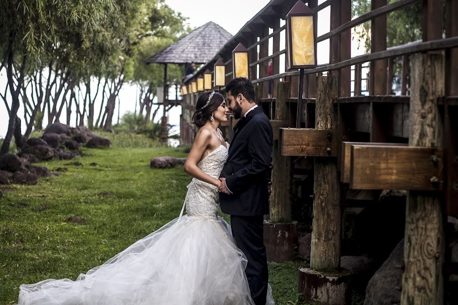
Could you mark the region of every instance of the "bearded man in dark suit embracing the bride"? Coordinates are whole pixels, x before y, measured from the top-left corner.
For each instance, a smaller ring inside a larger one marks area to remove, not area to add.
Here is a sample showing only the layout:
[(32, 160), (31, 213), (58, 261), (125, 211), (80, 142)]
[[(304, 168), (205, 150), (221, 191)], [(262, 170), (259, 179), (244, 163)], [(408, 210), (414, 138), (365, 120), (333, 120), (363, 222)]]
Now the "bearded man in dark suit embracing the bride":
[(232, 131), (229, 157), (221, 172), (221, 210), (231, 215), (237, 246), (245, 254), (245, 269), (256, 305), (265, 305), (267, 256), (263, 216), (269, 214), (266, 172), (272, 153), (272, 125), (254, 102), (254, 89), (244, 77), (226, 85), (228, 108), (240, 119)]

